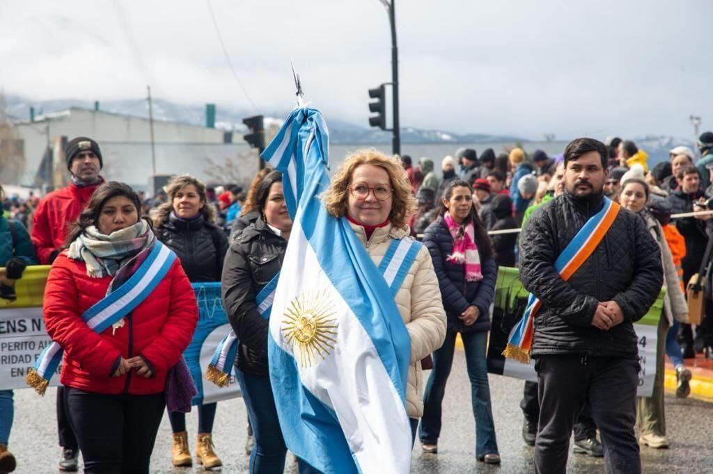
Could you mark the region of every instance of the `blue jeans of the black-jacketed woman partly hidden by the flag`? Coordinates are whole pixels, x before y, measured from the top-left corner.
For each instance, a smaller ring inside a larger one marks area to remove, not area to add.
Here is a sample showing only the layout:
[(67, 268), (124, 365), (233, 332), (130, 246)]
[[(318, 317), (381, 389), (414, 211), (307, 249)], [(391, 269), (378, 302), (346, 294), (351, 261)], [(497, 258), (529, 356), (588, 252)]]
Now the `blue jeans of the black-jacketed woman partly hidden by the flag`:
[[(255, 436), (255, 445), (250, 453), (250, 474), (282, 473), (287, 446), (279, 427), (270, 376), (248, 374), (236, 367), (235, 378), (240, 384), (252, 434)], [(297, 469), (299, 474), (317, 472), (301, 459), (297, 460)]]

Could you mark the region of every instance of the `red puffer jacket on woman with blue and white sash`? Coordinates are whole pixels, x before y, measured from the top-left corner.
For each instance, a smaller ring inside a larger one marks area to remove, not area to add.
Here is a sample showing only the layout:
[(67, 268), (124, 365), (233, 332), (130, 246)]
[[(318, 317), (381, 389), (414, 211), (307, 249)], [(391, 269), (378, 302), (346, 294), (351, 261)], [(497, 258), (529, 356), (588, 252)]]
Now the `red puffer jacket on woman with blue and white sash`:
[[(198, 305), (178, 258), (153, 292), (124, 317), (123, 327), (97, 334), (81, 319), (106, 295), (111, 277), (90, 278), (81, 260), (64, 253), (47, 278), (44, 320), (53, 341), (64, 349), (61, 382), (98, 394), (158, 394), (168, 369), (178, 362), (198, 322)], [(153, 369), (145, 378), (131, 370), (114, 377), (119, 357), (141, 355)]]

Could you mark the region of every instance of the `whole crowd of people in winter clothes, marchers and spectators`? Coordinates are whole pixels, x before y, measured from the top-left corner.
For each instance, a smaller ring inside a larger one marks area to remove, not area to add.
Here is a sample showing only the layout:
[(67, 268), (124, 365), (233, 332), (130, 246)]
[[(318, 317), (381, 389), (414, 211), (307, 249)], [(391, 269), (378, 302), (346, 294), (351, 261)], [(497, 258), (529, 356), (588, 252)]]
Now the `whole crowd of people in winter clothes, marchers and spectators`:
[[(443, 157), (440, 174), (425, 157), (415, 167), (407, 155), (398, 162), (374, 150), (344, 160), (324, 205), (349, 220), (374, 263), (393, 239), (410, 233), (424, 241), (394, 296), (412, 356), (421, 360), (409, 370), (406, 406), (424, 452), (438, 452), (460, 335), (475, 456), (501, 462), (486, 364), (499, 266), (518, 266), (523, 285), (540, 301), (531, 349), (539, 383), (525, 383), (520, 404), (535, 470), (565, 472), (573, 430), (574, 451), (603, 455), (607, 472), (640, 472), (639, 445), (668, 446), (664, 354), (676, 369), (680, 397), (690, 391), (684, 359), (697, 352), (713, 358), (713, 297), (706, 295), (702, 323), (692, 327), (684, 291), (694, 275), (711, 278), (703, 260), (712, 214), (672, 218), (713, 208), (712, 150), (713, 132), (706, 132), (699, 159), (676, 147), (670, 162), (653, 167), (634, 142), (618, 138), (577, 139), (556, 157), (520, 148), (499, 155), (486, 149), (478, 157), (474, 149), (458, 149)], [(78, 470), (81, 451), (86, 472), (148, 472), (167, 406), (173, 464), (193, 463), (185, 424), (190, 401), (186, 408), (174, 384), (190, 381), (181, 357), (198, 318), (190, 283), (221, 281), (240, 341), (235, 374), (247, 407), (250, 471), (282, 472), (287, 447), (267, 372), (268, 323), (257, 309), (257, 294), (279, 273), (292, 229), (282, 175), (263, 169), (247, 191), (179, 175), (147, 199), (101, 177), (101, 149), (93, 139), (72, 139), (66, 157), (69, 186), (24, 202), (3, 196), (0, 218), (5, 278), (21, 278), (26, 265), (52, 265), (43, 312), (48, 334), (65, 354), (56, 400), (59, 468)], [(609, 206), (615, 214), (600, 243), (565, 283), (555, 260)], [(153, 278), (149, 292), (113, 320), (90, 324), (93, 307), (143, 278)], [(663, 285), (655, 388), (637, 399), (632, 323)], [(15, 296), (4, 283), (0, 293)], [(431, 369), (425, 386), (422, 369)], [(12, 407), (12, 391), (0, 391), (1, 472), (16, 465), (8, 451)], [(205, 468), (222, 464), (212, 441), (216, 413), (215, 403), (198, 407), (195, 451)], [(299, 470), (314, 472), (302, 460)]]

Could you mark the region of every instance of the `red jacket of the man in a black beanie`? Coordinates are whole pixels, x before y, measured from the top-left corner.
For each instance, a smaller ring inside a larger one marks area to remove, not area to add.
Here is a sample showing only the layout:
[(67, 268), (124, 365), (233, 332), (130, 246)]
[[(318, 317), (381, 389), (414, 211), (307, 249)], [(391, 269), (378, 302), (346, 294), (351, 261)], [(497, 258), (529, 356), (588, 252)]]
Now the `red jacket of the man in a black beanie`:
[(32, 221), (32, 243), (41, 265), (51, 263), (52, 253), (64, 246), (71, 224), (79, 218), (92, 193), (103, 182), (102, 179), (101, 183), (84, 187), (72, 183), (52, 191), (40, 201)]

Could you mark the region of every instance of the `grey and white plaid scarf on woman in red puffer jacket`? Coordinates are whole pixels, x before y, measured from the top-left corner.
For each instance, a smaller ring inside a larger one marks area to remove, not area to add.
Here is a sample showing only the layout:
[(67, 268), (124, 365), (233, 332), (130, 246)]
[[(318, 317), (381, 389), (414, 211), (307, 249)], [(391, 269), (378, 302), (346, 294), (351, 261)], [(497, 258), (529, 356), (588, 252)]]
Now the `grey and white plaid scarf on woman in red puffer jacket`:
[(148, 255), (145, 251), (153, 247), (155, 238), (144, 219), (108, 236), (96, 226), (89, 226), (70, 244), (68, 257), (83, 260), (91, 278), (115, 277), (109, 285), (108, 293), (111, 293), (133, 275), (133, 270)]

